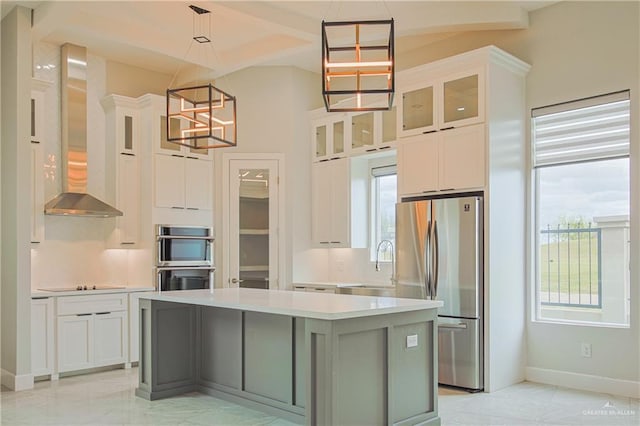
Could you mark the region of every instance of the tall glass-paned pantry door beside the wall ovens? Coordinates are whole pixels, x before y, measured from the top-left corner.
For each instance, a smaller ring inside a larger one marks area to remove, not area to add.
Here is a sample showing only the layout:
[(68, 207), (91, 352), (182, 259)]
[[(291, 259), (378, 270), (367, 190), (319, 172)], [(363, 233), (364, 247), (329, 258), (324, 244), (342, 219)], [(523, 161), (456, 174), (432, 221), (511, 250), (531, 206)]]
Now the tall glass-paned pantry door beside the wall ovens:
[(230, 287), (277, 288), (276, 160), (231, 160)]

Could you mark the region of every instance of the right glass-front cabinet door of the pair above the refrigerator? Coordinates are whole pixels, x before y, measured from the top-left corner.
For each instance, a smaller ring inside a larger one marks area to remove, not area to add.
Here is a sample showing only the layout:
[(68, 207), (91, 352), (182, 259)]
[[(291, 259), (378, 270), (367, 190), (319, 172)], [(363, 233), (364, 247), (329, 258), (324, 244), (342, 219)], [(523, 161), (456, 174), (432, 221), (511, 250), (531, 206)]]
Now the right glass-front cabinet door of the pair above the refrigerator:
[(474, 70), (451, 76), (442, 83), (440, 129), (484, 120), (484, 73)]

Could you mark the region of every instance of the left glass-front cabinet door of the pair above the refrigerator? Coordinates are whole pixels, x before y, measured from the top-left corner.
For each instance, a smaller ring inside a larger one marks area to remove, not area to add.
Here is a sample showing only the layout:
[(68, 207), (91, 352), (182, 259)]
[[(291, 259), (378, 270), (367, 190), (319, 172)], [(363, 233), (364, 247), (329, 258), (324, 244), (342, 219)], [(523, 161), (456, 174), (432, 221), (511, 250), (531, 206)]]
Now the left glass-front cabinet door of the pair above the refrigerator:
[(426, 85), (402, 92), (398, 135), (411, 136), (436, 129), (435, 87)]

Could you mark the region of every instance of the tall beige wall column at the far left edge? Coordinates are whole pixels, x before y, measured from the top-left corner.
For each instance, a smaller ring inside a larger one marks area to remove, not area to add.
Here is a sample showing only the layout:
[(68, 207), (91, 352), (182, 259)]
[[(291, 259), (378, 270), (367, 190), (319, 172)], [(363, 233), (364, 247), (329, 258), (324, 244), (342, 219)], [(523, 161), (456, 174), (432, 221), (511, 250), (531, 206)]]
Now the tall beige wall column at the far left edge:
[[(2, 384), (33, 387), (31, 375), (30, 188), (31, 15), (16, 7), (2, 20), (0, 295)], [(25, 214), (26, 213), (26, 214)]]

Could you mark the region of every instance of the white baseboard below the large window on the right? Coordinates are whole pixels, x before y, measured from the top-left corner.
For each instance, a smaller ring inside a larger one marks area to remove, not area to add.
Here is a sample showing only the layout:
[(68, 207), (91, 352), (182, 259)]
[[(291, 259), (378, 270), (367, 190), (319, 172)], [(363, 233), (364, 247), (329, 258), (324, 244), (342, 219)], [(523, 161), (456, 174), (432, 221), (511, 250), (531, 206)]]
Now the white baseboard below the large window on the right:
[(530, 382), (590, 392), (609, 393), (630, 398), (640, 398), (640, 382), (633, 380), (612, 379), (610, 377), (535, 367), (527, 367), (525, 377)]

